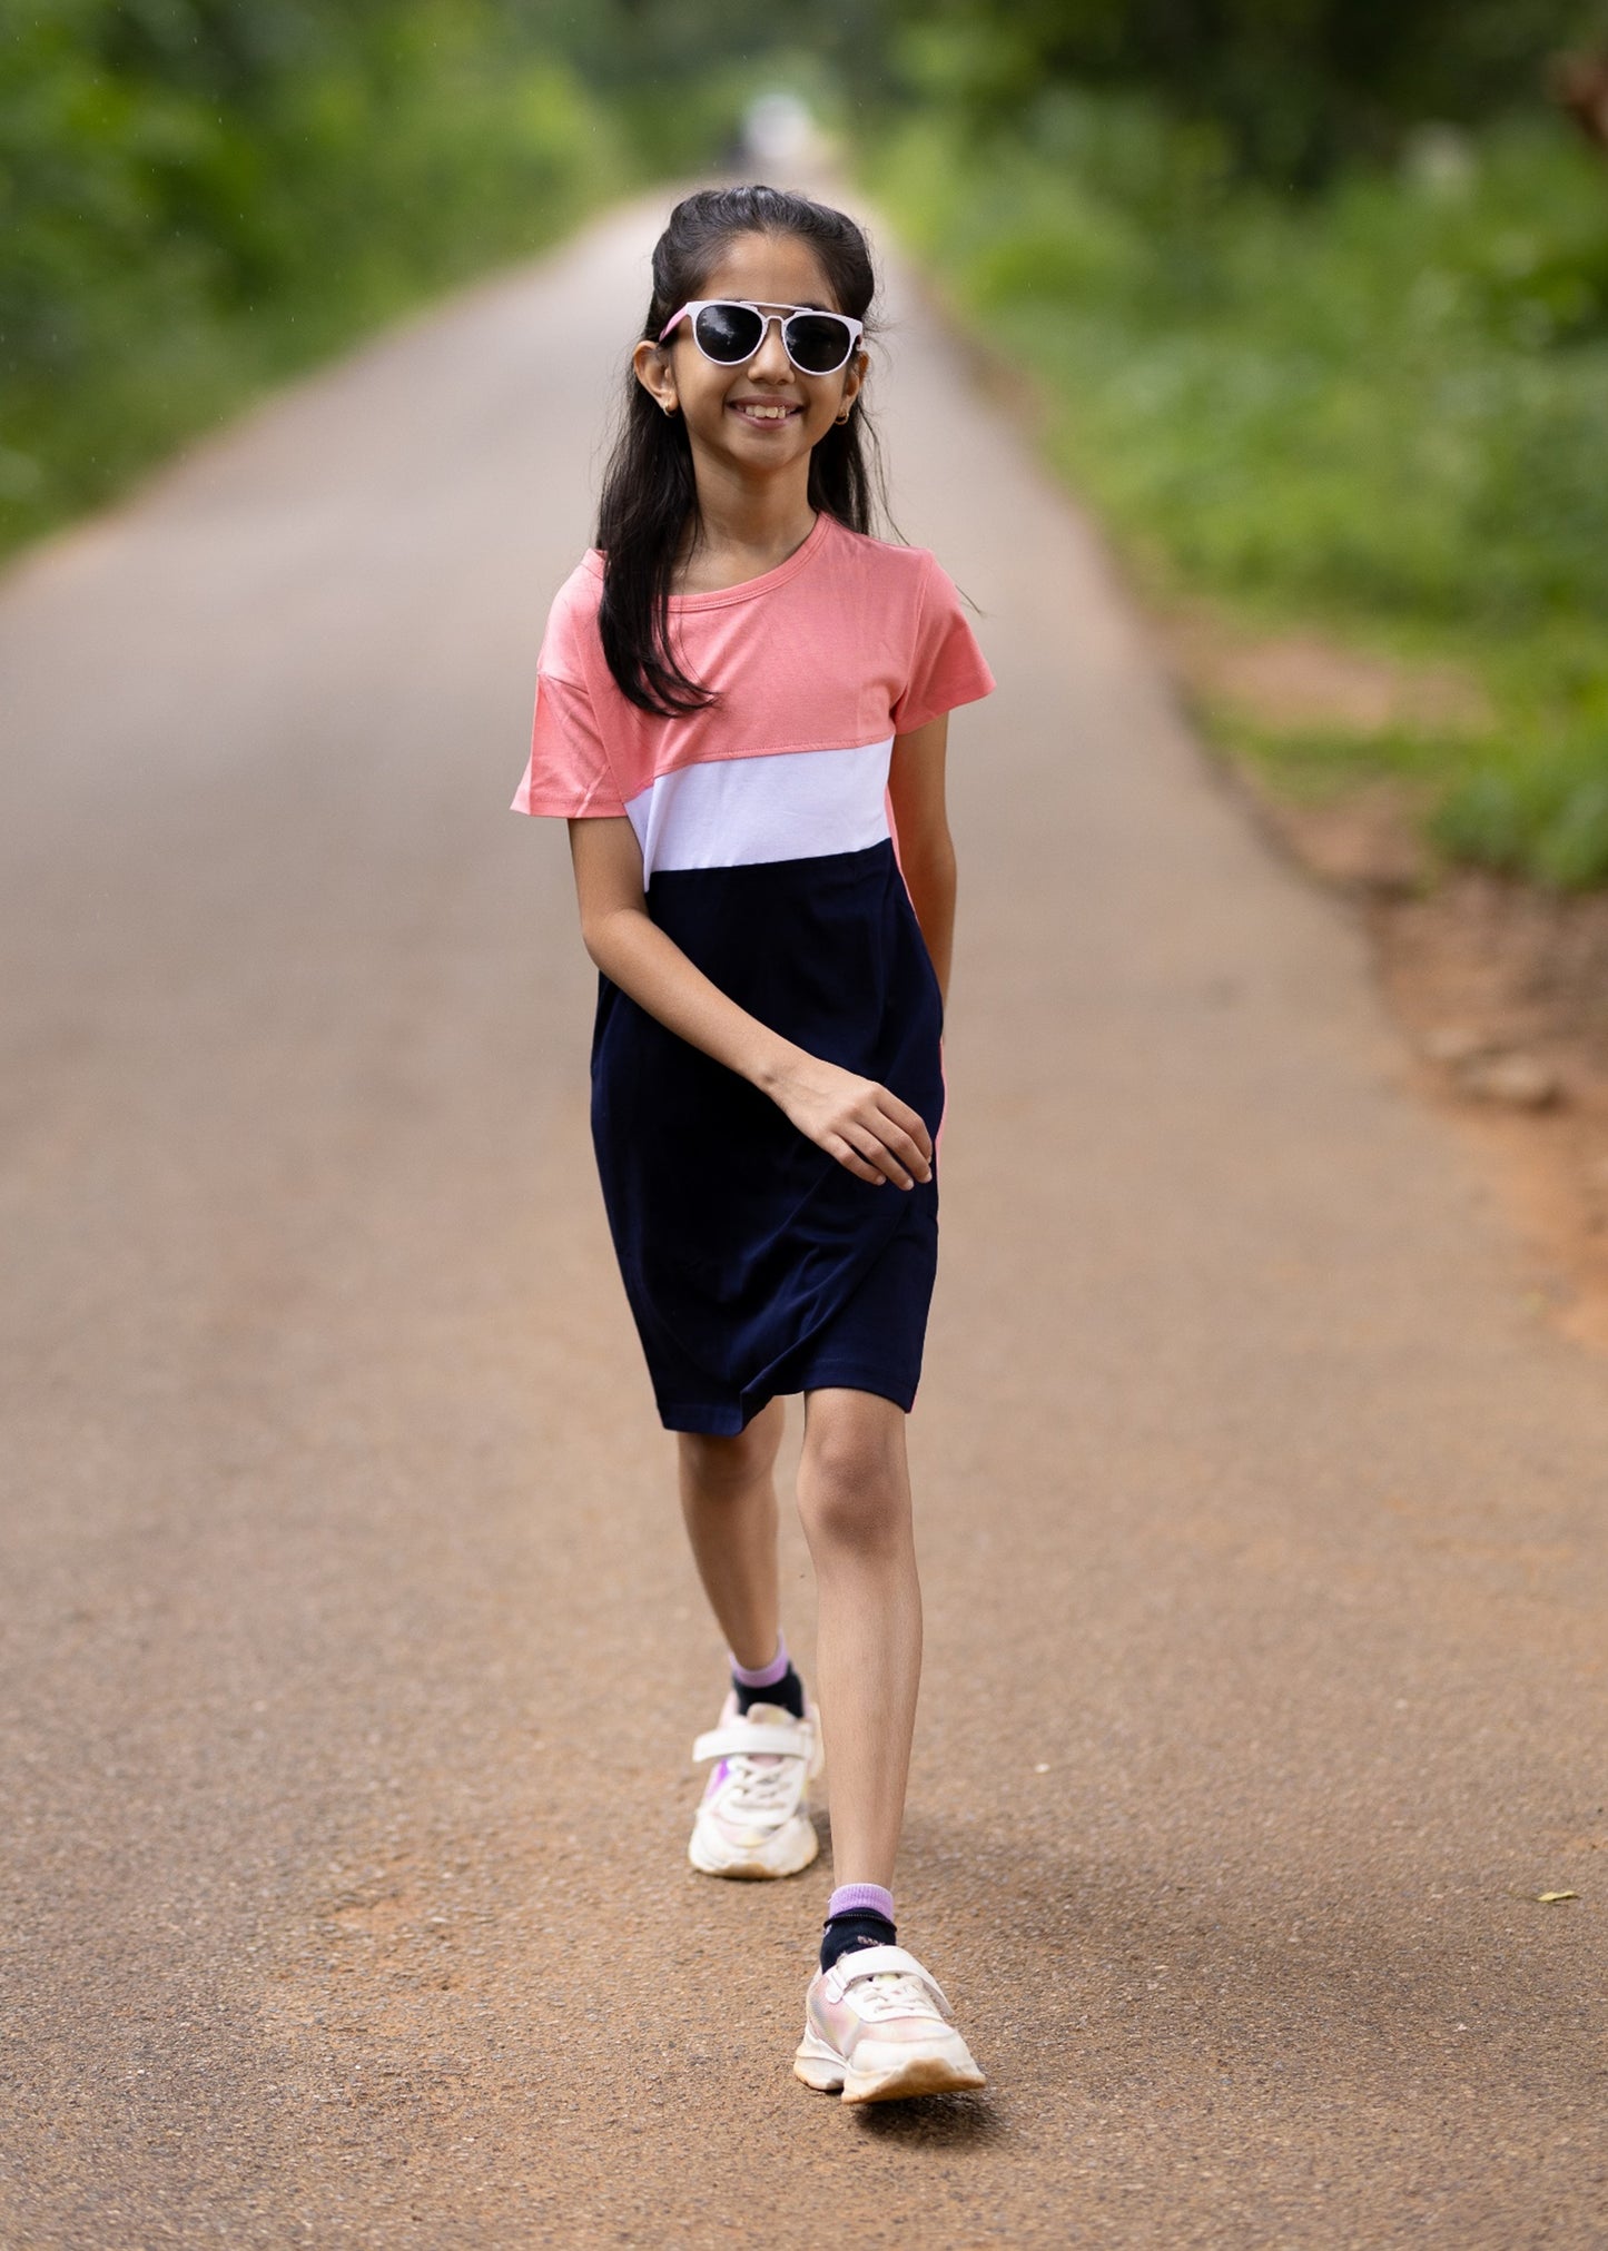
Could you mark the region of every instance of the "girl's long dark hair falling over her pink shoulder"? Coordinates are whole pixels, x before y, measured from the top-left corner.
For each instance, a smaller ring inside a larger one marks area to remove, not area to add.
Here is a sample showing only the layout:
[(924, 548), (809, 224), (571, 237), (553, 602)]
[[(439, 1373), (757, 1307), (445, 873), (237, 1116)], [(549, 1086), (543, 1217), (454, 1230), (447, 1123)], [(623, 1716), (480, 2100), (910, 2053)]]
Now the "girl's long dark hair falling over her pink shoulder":
[[(644, 340), (689, 297), (739, 234), (795, 234), (820, 259), (838, 311), (865, 320), (876, 293), (872, 248), (851, 218), (779, 187), (700, 187), (669, 216), (653, 245), (653, 295)], [(860, 394), (809, 459), (809, 502), (851, 531), (869, 531), (883, 504), (876, 437)], [(604, 473), (597, 545), (604, 549), (604, 601), (597, 612), (604, 655), (624, 696), (642, 711), (673, 718), (714, 702), (671, 646), (669, 597), (676, 549), (698, 513), (691, 443), (680, 414), (664, 414), (626, 369), (619, 437)]]

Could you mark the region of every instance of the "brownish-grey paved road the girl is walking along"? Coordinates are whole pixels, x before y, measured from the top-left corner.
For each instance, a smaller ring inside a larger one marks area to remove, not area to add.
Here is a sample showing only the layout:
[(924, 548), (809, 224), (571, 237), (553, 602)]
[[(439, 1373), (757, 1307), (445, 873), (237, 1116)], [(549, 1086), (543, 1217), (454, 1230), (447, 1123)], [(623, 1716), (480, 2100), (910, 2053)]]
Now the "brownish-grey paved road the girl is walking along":
[(908, 295), (1002, 682), (901, 1875), (986, 2096), (811, 2098), (824, 1873), (682, 1864), (718, 1643), (504, 813), (651, 225), (0, 594), (0, 2242), (1603, 2244), (1603, 1366)]

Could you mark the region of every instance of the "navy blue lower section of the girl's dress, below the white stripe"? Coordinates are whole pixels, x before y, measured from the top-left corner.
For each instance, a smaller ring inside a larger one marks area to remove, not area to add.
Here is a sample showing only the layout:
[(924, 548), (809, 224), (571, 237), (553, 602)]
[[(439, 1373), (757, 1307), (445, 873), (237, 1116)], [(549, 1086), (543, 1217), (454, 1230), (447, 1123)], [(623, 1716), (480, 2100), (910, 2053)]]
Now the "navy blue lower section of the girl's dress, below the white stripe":
[[(944, 1004), (890, 837), (658, 869), (651, 918), (772, 1031), (944, 1116)], [(734, 1434), (820, 1384), (910, 1409), (937, 1274), (930, 1182), (876, 1186), (599, 972), (592, 1144), (667, 1429)]]

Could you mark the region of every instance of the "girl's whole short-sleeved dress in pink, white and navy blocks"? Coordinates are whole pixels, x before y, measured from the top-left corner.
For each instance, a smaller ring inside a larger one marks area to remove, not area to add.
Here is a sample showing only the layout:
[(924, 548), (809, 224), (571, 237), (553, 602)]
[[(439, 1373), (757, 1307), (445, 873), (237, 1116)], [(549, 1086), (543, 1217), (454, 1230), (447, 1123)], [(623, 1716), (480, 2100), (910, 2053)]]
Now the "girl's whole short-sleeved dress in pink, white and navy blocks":
[[(955, 585), (831, 515), (786, 563), (671, 601), (718, 700), (655, 718), (604, 660), (592, 549), (554, 599), (516, 813), (624, 815), (646, 907), (772, 1031), (881, 1080), (935, 1137), (944, 1008), (899, 871), (896, 734), (993, 689)], [(592, 1146), (667, 1429), (734, 1434), (851, 1384), (910, 1409), (937, 1272), (937, 1162), (858, 1180), (757, 1087), (599, 972)]]

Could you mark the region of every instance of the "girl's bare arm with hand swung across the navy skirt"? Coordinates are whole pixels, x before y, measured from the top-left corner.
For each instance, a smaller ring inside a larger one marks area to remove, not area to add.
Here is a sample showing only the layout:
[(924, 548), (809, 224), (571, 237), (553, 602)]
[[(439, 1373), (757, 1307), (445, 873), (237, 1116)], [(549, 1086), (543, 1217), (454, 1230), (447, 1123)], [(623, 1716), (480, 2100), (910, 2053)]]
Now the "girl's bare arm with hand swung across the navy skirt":
[(845, 1071), (784, 1040), (687, 959), (649, 914), (642, 846), (624, 815), (570, 822), (581, 941), (637, 1006), (691, 1047), (725, 1062), (849, 1173), (912, 1189), (932, 1177), (932, 1137), (919, 1110), (874, 1078)]

